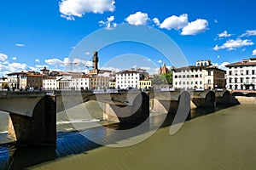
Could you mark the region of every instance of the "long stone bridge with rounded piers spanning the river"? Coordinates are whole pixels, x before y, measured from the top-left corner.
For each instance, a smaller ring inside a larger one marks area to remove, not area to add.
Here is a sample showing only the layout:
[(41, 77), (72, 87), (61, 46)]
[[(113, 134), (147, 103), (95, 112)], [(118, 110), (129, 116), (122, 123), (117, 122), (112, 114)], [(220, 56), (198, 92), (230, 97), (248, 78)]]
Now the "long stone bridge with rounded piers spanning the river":
[(230, 102), (229, 91), (161, 92), (125, 91), (93, 94), (80, 91), (0, 92), (0, 111), (9, 112), (9, 135), (20, 144), (56, 144), (56, 112), (90, 100), (101, 103), (103, 118), (121, 123), (142, 123), (149, 109), (183, 114), (189, 119), (190, 102), (197, 107), (215, 107)]

